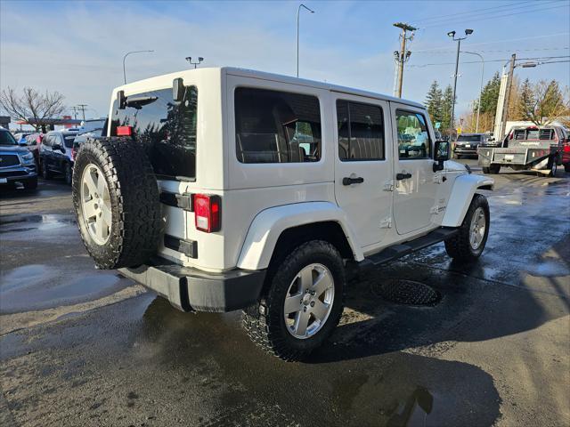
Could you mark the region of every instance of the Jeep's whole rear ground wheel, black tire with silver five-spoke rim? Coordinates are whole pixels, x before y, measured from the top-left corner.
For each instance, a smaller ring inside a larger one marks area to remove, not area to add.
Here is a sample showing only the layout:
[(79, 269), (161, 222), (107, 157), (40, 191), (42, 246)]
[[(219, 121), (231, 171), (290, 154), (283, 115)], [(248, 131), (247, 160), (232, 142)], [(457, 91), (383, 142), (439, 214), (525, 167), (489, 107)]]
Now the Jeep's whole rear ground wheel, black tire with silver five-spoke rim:
[(313, 240), (276, 266), (260, 302), (243, 311), (253, 342), (280, 359), (304, 359), (338, 325), (345, 271), (335, 246)]

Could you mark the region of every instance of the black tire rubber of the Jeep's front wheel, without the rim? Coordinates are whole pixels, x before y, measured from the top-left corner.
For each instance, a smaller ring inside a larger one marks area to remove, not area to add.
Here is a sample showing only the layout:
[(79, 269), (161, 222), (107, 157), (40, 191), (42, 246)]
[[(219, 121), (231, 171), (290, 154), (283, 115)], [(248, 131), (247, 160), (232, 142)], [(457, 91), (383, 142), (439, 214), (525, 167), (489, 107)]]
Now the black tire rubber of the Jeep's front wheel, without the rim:
[[(469, 243), (469, 228), (471, 225), (471, 220), (473, 214), (478, 207), (483, 208), (485, 212), (485, 235), (483, 241), (479, 247), (474, 250)], [(489, 203), (487, 198), (481, 194), (476, 194), (471, 200), (471, 205), (469, 205), (467, 214), (461, 223), (460, 230), (453, 238), (445, 240), (445, 251), (452, 257), (455, 261), (459, 262), (474, 262), (483, 253), (485, 249), (485, 244), (487, 243), (487, 238), (489, 237)]]

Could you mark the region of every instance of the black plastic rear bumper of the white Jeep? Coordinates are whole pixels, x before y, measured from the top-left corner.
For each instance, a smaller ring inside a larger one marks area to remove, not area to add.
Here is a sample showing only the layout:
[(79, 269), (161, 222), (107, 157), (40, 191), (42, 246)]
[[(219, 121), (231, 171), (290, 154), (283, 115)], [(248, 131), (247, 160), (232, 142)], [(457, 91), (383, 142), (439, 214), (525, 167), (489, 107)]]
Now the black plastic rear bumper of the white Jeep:
[(183, 311), (243, 309), (257, 301), (265, 280), (265, 270), (230, 270), (213, 274), (165, 260), (118, 271), (162, 295)]

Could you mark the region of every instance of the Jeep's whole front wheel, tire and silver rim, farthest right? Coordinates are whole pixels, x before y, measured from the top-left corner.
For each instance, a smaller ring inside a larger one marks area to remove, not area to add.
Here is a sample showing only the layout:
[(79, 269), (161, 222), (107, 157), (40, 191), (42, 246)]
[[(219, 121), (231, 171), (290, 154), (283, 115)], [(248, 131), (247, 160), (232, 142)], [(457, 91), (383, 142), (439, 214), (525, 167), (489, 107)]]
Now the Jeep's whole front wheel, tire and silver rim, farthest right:
[(485, 196), (476, 194), (458, 233), (445, 240), (445, 251), (454, 260), (473, 262), (481, 256), (489, 236), (489, 203)]

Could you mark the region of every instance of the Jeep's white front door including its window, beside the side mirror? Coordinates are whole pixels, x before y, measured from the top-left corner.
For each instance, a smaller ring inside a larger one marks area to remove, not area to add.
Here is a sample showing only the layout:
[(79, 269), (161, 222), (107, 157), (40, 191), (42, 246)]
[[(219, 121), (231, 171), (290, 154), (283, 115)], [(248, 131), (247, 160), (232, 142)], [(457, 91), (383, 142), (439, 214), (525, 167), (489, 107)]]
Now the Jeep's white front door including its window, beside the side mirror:
[(395, 141), (394, 218), (398, 234), (432, 225), (436, 208), (433, 131), (423, 109), (391, 102)]

